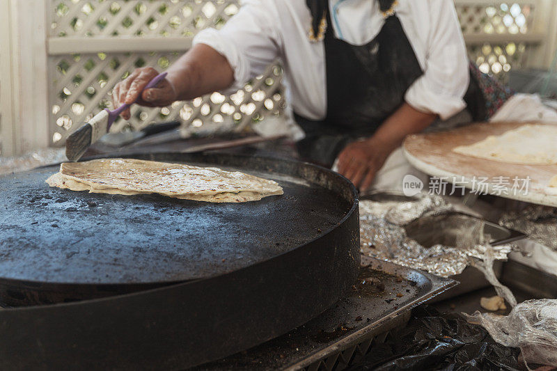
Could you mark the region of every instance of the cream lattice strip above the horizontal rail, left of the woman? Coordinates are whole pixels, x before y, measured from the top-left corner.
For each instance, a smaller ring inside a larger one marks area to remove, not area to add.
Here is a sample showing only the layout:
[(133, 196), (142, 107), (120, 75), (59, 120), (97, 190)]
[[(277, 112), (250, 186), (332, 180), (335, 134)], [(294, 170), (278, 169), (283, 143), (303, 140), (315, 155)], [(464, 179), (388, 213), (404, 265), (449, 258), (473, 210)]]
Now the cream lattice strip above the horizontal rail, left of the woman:
[(219, 28), (237, 13), (237, 1), (50, 0), (53, 37), (193, 36)]

